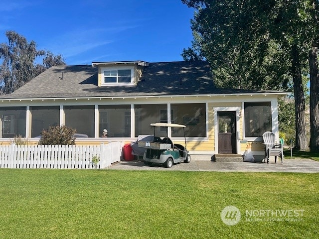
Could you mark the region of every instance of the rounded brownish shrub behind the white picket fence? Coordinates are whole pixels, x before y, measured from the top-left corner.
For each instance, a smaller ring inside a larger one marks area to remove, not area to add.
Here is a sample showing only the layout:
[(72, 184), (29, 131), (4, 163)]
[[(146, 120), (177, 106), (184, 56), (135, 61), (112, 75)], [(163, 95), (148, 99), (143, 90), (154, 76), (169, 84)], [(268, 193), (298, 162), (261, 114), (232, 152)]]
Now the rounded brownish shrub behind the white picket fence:
[(39, 144), (73, 145), (75, 144), (75, 137), (73, 137), (75, 132), (76, 129), (65, 125), (50, 126), (48, 129), (42, 130)]

